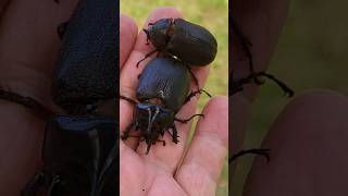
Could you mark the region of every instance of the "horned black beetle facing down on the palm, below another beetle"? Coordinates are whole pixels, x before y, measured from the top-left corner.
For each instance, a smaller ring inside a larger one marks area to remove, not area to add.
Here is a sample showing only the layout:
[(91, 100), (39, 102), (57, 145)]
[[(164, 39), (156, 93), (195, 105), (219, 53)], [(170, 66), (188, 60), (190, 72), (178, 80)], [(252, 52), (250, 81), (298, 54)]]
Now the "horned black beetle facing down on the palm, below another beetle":
[[(156, 58), (147, 64), (139, 77), (139, 86), (136, 90), (137, 100), (125, 96), (121, 98), (136, 105), (133, 122), (123, 132), (122, 139), (129, 137), (130, 130), (140, 130), (140, 142), (148, 145), (146, 154), (151, 145), (154, 145), (159, 136), (163, 136), (165, 131), (172, 128), (171, 136), (174, 143), (177, 140), (177, 131), (174, 121), (188, 122), (196, 115), (187, 120), (179, 120), (175, 114), (189, 99), (197, 94), (190, 93), (190, 73), (178, 60), (173, 58)], [(144, 138), (144, 139), (142, 139)], [(165, 144), (164, 140), (163, 145)]]

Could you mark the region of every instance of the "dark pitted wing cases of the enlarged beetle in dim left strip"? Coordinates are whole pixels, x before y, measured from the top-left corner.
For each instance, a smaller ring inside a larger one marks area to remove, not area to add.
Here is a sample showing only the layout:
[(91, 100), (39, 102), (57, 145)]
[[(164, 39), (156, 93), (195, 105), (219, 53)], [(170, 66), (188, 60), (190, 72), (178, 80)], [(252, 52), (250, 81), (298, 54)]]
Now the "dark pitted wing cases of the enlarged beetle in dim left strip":
[(54, 102), (65, 110), (116, 96), (116, 3), (82, 0), (69, 22), (52, 89)]

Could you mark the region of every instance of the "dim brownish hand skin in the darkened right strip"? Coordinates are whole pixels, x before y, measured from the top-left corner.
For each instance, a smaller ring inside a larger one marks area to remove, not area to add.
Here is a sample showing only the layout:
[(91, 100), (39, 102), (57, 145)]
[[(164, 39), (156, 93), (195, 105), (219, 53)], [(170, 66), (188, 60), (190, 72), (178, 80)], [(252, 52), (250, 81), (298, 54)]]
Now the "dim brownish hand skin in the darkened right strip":
[[(285, 0), (262, 3), (246, 0), (233, 7), (236, 21), (253, 44), (258, 71), (266, 69), (273, 54), (287, 7)], [(233, 56), (234, 64), (238, 65), (236, 69), (246, 68), (247, 62), (238, 62), (236, 52), (234, 50)], [(241, 69), (239, 73), (247, 74), (248, 70)], [(257, 88), (256, 85), (248, 86), (246, 91), (229, 98), (234, 133), (229, 147), (234, 151), (240, 149), (241, 143), (237, 144), (237, 140), (244, 137)], [(262, 157), (256, 158), (245, 184), (245, 196), (348, 194), (345, 186), (348, 175), (347, 96), (324, 89), (297, 94), (264, 138), (262, 148), (271, 149), (271, 161), (266, 163)], [(233, 177), (233, 169), (229, 177)]]

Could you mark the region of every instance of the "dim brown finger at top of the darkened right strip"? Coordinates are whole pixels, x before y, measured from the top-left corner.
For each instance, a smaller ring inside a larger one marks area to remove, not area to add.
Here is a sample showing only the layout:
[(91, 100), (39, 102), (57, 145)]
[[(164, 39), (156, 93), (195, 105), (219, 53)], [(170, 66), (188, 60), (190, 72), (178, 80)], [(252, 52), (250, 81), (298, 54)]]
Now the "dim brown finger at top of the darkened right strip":
[[(247, 0), (236, 3), (232, 2), (232, 17), (236, 28), (252, 44), (250, 47), (254, 71), (264, 71), (269, 65), (276, 47), (279, 34), (287, 16), (289, 0), (266, 0), (262, 3)], [(233, 30), (235, 33), (235, 30)], [(235, 35), (235, 34), (234, 34)], [(249, 61), (246, 52), (240, 47), (240, 38), (234, 36), (232, 69), (234, 77), (240, 78), (250, 74)], [(240, 56), (243, 60), (240, 61)], [(253, 100), (257, 85), (246, 88), (244, 94)]]

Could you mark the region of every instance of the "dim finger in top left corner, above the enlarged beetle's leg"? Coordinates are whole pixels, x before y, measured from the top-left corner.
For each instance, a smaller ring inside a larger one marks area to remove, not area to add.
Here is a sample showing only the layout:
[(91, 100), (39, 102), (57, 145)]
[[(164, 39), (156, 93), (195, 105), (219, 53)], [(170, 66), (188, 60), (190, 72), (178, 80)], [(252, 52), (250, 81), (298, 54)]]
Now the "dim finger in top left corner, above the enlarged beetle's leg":
[(77, 0), (12, 0), (1, 20), (0, 84), (51, 108), (51, 76), (61, 40), (57, 27), (66, 22)]

